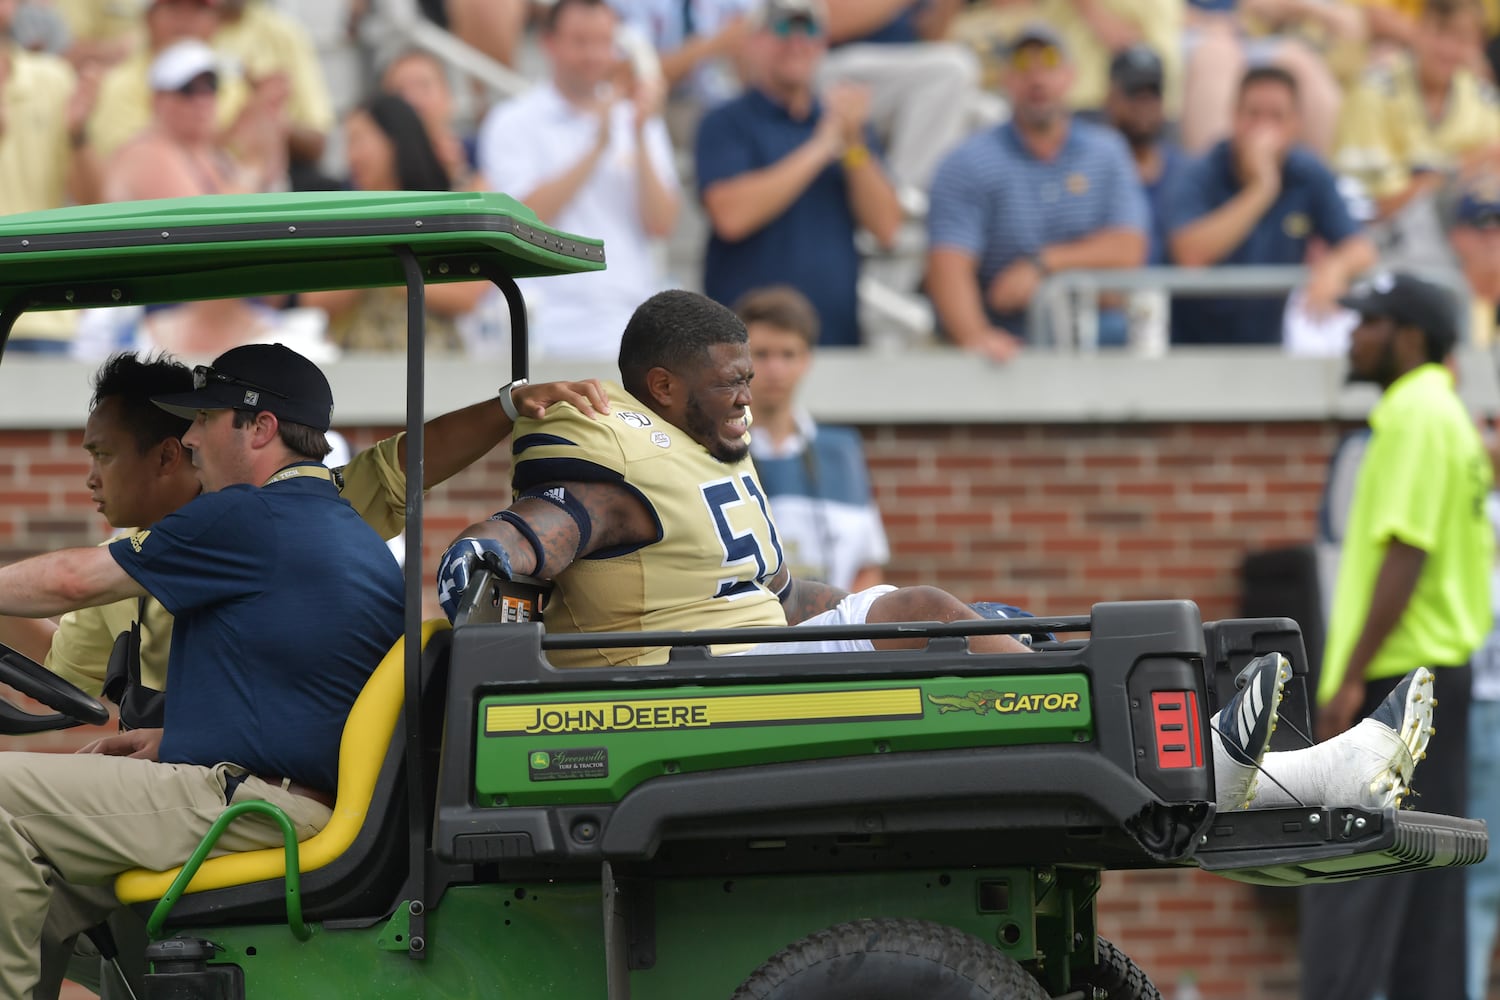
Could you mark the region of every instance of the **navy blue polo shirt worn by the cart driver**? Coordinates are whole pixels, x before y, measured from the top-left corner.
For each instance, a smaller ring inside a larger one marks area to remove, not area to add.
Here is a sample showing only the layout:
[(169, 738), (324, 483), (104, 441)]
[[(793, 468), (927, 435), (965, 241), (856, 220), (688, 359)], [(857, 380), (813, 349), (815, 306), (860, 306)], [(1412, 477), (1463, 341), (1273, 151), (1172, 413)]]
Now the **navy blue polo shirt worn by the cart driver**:
[(390, 549), (333, 483), (204, 493), (110, 555), (176, 618), (159, 759), (333, 792), (344, 723), (405, 606)]

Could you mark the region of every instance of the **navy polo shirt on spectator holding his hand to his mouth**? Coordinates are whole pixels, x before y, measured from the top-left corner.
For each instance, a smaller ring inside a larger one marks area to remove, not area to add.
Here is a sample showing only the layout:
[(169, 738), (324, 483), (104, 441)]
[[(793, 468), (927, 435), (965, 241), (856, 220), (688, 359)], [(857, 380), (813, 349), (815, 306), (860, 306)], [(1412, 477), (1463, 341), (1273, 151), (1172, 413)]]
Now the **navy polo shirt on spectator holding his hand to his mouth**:
[[(1242, 184), (1222, 141), (1188, 166), (1167, 205), (1167, 231), (1202, 219), (1233, 198)], [(1220, 267), (1302, 264), (1308, 240), (1342, 243), (1359, 232), (1334, 172), (1310, 150), (1293, 148), (1281, 168), (1281, 195)], [(1178, 298), (1172, 309), (1173, 343), (1281, 343), (1286, 295), (1260, 298)]]

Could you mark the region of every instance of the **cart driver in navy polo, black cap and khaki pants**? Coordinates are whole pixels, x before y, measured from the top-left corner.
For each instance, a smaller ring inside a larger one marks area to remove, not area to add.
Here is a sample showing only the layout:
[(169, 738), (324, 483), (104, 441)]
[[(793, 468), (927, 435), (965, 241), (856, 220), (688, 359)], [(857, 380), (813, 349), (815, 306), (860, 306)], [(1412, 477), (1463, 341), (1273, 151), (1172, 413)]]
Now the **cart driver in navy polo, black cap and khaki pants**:
[[(332, 816), (339, 735), (400, 634), (402, 573), (321, 459), (333, 393), (282, 345), (234, 348), (154, 397), (190, 417), (202, 493), (108, 546), (0, 568), (0, 613), (62, 615), (150, 594), (174, 615), (162, 729), (99, 756), (0, 754), (0, 996), (30, 1000), (129, 868), (182, 864), (234, 799), (308, 838)], [(274, 622), (268, 628), (267, 622)], [(309, 642), (309, 637), (316, 637)], [(280, 843), (261, 817), (224, 850)]]

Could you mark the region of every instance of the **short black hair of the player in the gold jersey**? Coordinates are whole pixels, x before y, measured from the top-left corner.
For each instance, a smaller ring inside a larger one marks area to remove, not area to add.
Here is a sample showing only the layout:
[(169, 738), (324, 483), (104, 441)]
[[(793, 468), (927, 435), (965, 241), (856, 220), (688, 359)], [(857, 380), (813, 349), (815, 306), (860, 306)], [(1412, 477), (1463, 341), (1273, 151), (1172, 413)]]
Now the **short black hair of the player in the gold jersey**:
[(746, 343), (746, 325), (712, 298), (672, 289), (640, 303), (620, 337), (620, 381), (645, 400), (646, 372), (664, 367), (686, 372), (708, 361), (718, 343)]

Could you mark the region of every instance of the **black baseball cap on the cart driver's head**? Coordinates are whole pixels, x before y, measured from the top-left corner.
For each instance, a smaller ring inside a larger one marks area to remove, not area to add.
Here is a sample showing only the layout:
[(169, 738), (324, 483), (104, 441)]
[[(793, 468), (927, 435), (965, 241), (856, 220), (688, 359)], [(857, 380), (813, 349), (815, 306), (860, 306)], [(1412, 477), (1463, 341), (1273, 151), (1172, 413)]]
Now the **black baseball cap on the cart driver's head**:
[(333, 390), (316, 364), (282, 343), (248, 343), (192, 370), (194, 390), (153, 396), (170, 414), (192, 420), (200, 409), (270, 412), (279, 420), (327, 430)]

